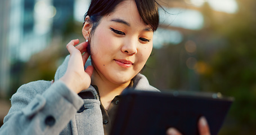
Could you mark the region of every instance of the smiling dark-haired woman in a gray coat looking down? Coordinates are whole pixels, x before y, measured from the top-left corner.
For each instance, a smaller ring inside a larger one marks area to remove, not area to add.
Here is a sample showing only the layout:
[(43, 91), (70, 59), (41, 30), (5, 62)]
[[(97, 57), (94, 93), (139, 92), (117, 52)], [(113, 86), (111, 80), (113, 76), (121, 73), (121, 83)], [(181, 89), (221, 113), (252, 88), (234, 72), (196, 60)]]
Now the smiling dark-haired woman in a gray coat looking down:
[[(39, 80), (18, 89), (0, 133), (108, 134), (113, 101), (125, 88), (158, 91), (140, 74), (158, 27), (154, 0), (92, 0), (84, 21), (87, 42), (68, 43), (70, 56), (57, 69), (54, 83)], [(84, 70), (89, 55), (92, 66)], [(209, 133), (207, 126), (200, 129)], [(173, 133), (179, 134), (168, 129), (167, 134)]]

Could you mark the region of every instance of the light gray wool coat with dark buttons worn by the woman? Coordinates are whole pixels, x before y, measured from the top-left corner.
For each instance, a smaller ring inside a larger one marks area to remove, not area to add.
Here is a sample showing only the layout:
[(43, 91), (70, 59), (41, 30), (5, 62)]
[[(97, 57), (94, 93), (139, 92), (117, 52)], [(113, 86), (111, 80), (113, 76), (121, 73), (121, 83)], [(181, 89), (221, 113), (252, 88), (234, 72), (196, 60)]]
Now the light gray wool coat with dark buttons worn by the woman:
[[(59, 79), (65, 74), (69, 56), (57, 69), (55, 83), (38, 80), (21, 86), (11, 98), (11, 109), (3, 120), (0, 134), (104, 134), (100, 101), (82, 99)], [(158, 91), (142, 74), (133, 79), (137, 90)], [(86, 110), (77, 113), (84, 105)]]

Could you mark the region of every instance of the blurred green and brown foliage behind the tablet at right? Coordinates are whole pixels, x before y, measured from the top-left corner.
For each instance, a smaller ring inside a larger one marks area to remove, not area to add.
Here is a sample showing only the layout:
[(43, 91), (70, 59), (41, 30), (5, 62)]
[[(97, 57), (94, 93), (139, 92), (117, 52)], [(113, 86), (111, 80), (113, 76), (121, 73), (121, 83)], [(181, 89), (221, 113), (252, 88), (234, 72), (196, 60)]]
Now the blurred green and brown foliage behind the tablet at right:
[[(145, 70), (151, 84), (160, 89), (221, 92), (235, 97), (219, 134), (255, 134), (256, 129), (256, 1), (237, 1), (233, 15), (216, 15), (207, 4), (202, 8), (205, 26), (184, 34), (178, 45), (154, 50)], [(197, 46), (186, 51), (186, 42)], [(196, 60), (194, 68), (187, 65)]]

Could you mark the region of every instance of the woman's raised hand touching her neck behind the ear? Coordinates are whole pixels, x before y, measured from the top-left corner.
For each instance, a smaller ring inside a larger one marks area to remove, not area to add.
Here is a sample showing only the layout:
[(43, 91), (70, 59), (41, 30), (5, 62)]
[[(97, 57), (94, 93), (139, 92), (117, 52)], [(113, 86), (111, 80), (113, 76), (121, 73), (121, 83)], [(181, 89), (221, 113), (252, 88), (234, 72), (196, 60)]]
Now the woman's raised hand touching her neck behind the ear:
[(67, 44), (66, 48), (70, 53), (68, 69), (64, 76), (60, 78), (75, 93), (79, 93), (90, 86), (93, 73), (93, 66), (88, 66), (84, 70), (84, 64), (86, 64), (89, 57), (89, 53), (87, 52), (88, 42), (83, 42), (75, 46), (78, 43), (79, 39), (74, 39)]

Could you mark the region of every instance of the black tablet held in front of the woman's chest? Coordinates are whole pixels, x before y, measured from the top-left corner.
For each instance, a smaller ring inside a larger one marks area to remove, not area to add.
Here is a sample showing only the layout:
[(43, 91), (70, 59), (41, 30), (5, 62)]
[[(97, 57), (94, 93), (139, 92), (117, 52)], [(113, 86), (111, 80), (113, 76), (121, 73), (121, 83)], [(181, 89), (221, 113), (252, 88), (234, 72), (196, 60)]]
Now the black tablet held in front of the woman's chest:
[(205, 116), (210, 133), (218, 134), (233, 102), (219, 93), (127, 91), (122, 95), (111, 135), (166, 134), (170, 127), (183, 135), (199, 134)]

